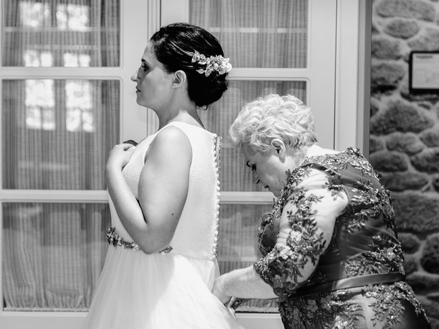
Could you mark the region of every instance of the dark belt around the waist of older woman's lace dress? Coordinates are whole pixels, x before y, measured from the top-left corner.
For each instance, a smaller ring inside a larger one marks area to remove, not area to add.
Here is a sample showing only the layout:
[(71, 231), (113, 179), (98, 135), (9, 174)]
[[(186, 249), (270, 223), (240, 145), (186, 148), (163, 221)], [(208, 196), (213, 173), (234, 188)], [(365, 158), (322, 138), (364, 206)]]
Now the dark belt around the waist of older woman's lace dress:
[(368, 284), (392, 283), (405, 280), (403, 273), (390, 272), (379, 274), (368, 274), (366, 276), (355, 276), (354, 278), (344, 278), (333, 282), (319, 284), (318, 286), (303, 287), (297, 289), (290, 296), (291, 299), (316, 295), (320, 293), (329, 293), (340, 289), (351, 289), (367, 286)]

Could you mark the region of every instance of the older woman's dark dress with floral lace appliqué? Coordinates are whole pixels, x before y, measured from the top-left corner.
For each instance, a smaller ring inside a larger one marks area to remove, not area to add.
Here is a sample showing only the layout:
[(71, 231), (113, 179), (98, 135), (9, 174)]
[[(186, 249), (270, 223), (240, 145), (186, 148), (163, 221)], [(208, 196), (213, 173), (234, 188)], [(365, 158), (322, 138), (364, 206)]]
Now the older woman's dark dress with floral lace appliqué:
[(279, 296), (285, 328), (429, 328), (404, 282), (388, 191), (357, 149), (289, 173), (259, 244), (254, 269)]

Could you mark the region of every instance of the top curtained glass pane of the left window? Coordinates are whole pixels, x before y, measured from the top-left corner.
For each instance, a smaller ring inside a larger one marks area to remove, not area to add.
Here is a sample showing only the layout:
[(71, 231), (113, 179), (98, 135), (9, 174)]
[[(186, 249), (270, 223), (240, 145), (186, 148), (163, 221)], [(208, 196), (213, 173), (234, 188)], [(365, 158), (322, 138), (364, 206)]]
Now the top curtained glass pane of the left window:
[(3, 66), (119, 66), (119, 0), (2, 0)]

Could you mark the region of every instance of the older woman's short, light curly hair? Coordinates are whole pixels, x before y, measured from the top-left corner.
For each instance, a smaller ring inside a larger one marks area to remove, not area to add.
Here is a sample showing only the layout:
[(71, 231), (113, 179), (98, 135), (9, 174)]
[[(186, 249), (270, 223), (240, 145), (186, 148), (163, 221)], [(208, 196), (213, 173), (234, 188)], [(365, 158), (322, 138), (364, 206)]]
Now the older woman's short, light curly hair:
[(247, 145), (259, 153), (268, 151), (274, 138), (298, 151), (317, 141), (311, 109), (292, 95), (270, 94), (246, 104), (229, 135), (235, 147)]

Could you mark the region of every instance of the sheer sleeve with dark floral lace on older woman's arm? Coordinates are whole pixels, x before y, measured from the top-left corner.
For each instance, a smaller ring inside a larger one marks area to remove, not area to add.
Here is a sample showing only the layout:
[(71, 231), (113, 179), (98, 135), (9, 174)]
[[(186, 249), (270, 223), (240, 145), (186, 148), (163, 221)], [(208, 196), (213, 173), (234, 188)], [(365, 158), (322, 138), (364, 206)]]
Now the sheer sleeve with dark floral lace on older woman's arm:
[(330, 191), (327, 175), (313, 169), (289, 195), (276, 245), (254, 264), (279, 296), (307, 283), (331, 242), (335, 219), (348, 204), (344, 191)]

